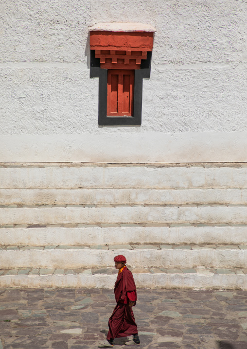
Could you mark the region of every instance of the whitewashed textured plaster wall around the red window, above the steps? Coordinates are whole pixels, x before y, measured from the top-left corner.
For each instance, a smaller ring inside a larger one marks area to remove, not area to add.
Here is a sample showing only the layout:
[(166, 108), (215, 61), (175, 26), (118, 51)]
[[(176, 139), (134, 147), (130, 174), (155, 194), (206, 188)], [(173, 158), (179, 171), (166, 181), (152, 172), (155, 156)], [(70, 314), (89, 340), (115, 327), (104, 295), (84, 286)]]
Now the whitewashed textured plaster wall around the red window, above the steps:
[[(8, 0), (0, 13), (0, 161), (247, 161), (246, 1)], [(88, 27), (101, 21), (157, 29), (141, 127), (98, 127)]]

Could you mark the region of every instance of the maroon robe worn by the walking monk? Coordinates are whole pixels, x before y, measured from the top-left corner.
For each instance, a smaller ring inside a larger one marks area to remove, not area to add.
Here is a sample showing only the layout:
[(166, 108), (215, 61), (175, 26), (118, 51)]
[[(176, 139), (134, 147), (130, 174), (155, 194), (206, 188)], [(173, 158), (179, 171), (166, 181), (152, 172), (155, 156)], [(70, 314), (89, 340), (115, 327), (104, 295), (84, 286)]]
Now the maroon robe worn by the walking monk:
[(128, 300), (128, 292), (135, 293), (135, 306), (137, 301), (135, 281), (131, 271), (125, 267), (123, 271), (118, 274), (117, 281), (115, 282), (114, 294), (117, 305), (109, 318), (109, 332), (106, 339), (127, 337), (138, 333), (132, 307), (129, 306), (128, 301), (126, 303), (126, 298)]

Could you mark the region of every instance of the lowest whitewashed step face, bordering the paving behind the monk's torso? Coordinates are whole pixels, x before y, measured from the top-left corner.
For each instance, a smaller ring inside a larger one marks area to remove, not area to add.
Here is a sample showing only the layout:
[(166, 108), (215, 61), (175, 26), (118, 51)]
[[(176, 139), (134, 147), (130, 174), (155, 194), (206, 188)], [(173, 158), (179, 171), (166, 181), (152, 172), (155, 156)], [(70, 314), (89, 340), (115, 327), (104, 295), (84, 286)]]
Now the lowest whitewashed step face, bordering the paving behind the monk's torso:
[[(247, 290), (246, 275), (229, 274), (133, 274), (139, 288)], [(113, 288), (116, 275), (6, 275), (0, 287)]]

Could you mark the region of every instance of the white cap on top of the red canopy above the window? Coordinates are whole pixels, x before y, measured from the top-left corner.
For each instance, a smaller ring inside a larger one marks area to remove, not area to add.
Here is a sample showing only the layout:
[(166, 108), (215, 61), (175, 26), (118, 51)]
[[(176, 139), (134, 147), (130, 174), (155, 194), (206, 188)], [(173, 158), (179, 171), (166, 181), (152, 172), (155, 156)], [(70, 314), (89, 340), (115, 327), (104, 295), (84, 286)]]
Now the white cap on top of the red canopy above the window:
[(106, 32), (156, 32), (155, 27), (143, 23), (97, 23), (90, 27), (89, 32), (106, 31)]

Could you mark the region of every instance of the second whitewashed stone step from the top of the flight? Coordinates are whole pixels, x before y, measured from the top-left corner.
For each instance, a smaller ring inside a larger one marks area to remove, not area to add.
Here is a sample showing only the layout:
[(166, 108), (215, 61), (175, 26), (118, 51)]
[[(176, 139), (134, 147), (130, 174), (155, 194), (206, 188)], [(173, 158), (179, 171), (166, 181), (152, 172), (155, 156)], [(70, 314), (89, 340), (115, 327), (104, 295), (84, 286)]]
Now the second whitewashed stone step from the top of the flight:
[(0, 205), (246, 205), (247, 189), (0, 189)]

